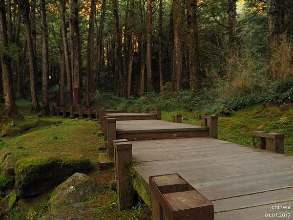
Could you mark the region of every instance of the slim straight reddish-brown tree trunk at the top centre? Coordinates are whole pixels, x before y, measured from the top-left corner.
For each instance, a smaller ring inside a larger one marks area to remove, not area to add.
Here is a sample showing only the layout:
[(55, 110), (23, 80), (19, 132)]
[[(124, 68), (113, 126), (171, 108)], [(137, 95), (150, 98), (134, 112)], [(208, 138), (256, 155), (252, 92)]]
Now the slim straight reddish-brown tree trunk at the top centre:
[(146, 76), (147, 91), (152, 91), (152, 71), (151, 71), (151, 17), (152, 17), (151, 0), (147, 0), (146, 13)]

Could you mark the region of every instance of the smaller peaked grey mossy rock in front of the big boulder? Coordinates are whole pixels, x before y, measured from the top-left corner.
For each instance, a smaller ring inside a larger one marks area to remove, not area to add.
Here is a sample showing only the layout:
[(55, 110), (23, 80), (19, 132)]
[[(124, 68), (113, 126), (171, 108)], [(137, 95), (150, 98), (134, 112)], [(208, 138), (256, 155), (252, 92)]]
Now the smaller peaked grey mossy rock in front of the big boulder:
[(50, 210), (87, 201), (101, 191), (102, 187), (94, 179), (85, 174), (75, 173), (54, 190), (49, 200)]

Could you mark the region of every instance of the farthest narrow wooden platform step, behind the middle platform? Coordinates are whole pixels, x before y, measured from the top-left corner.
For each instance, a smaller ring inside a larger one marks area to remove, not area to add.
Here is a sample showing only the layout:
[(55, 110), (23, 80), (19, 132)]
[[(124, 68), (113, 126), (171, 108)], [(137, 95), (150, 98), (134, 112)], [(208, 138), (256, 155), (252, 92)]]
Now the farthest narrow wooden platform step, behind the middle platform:
[(155, 113), (106, 113), (106, 116), (116, 118), (117, 121), (157, 119), (157, 115)]

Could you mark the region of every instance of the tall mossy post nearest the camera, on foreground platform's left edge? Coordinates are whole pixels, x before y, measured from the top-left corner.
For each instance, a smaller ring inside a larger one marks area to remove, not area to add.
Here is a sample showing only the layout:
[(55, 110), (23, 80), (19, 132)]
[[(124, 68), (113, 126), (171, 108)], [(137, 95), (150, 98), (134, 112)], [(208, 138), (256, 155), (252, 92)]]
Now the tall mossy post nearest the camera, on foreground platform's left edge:
[(130, 142), (116, 143), (117, 155), (117, 195), (120, 210), (129, 210), (133, 207), (132, 189), (132, 145)]

